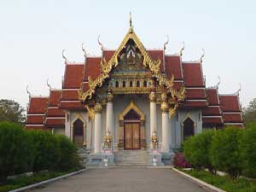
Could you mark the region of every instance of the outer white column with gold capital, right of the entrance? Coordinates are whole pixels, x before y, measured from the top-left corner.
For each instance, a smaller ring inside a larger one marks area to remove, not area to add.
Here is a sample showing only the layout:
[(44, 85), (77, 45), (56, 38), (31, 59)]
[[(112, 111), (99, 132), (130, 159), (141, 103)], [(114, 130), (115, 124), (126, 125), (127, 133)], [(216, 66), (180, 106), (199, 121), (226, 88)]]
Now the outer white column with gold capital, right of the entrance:
[(163, 153), (169, 153), (169, 144), (170, 144), (170, 131), (171, 126), (169, 125), (169, 113), (168, 113), (168, 102), (166, 93), (161, 95), (162, 103), (161, 103), (161, 110), (162, 110), (162, 144), (161, 144), (161, 151)]

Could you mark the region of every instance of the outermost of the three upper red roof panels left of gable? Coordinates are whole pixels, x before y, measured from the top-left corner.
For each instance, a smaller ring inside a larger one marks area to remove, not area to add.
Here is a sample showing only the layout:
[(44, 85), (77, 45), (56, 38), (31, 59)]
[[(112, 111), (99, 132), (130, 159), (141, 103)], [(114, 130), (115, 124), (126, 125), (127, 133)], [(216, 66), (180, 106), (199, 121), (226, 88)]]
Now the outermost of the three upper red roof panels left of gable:
[(84, 77), (84, 65), (67, 64), (63, 81), (63, 89), (79, 88)]

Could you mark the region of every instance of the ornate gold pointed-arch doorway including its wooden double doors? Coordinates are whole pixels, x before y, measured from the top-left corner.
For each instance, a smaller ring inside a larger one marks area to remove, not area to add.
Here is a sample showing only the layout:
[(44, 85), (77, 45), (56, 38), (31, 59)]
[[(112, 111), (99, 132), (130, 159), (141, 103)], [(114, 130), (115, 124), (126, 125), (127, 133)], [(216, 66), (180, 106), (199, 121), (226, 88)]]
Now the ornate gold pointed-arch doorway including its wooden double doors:
[[(125, 130), (126, 134), (131, 135), (128, 137), (126, 135), (126, 142), (128, 142), (127, 139), (131, 139), (130, 145), (129, 143), (125, 143)], [(137, 133), (139, 133), (138, 137)], [(139, 139), (138, 143), (137, 139)], [(145, 114), (131, 101), (130, 104), (119, 113), (119, 148), (139, 149), (145, 147)]]

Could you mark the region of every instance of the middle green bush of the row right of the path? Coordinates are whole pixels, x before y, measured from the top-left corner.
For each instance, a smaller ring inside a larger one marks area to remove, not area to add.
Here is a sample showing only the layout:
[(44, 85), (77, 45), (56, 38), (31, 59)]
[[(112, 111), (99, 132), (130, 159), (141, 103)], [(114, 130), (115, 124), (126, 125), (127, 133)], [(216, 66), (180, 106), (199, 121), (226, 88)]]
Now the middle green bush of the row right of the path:
[(235, 178), (241, 174), (241, 129), (227, 127), (212, 137), (210, 157), (212, 166)]

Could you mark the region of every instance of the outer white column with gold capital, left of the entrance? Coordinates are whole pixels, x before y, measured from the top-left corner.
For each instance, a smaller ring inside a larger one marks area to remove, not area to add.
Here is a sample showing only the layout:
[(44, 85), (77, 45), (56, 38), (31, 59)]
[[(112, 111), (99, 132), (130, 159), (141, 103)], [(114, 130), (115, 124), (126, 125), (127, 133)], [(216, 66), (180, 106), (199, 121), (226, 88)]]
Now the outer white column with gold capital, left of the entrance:
[(94, 153), (102, 153), (102, 105), (95, 106)]

